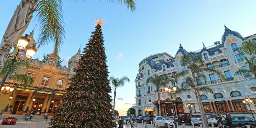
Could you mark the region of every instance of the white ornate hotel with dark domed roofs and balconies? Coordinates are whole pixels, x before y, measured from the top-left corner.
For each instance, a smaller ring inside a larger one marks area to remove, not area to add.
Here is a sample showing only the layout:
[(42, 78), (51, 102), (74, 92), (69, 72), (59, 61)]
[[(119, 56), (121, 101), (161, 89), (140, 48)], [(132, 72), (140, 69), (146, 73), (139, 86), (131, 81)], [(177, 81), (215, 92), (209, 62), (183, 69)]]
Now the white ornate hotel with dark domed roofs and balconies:
[[(213, 94), (200, 92), (206, 112), (250, 110), (249, 106), (242, 102), (246, 97), (253, 99), (250, 107), (252, 110), (256, 110), (256, 80), (254, 76), (252, 74), (234, 75), (239, 69), (248, 69), (244, 57), (250, 56), (241, 55), (239, 45), (248, 39), (255, 38), (256, 34), (242, 37), (238, 32), (231, 31), (225, 26), (220, 44), (204, 47), (195, 52), (187, 52), (180, 44), (175, 57), (166, 52), (146, 57), (139, 63), (139, 73), (135, 80), (136, 105), (133, 108), (136, 110), (136, 115), (155, 115), (157, 113), (157, 88), (151, 83), (146, 85), (146, 79), (154, 74), (167, 74), (168, 78), (175, 78), (178, 72), (187, 70), (181, 60), (185, 54), (190, 54), (191, 57), (201, 56), (206, 68), (222, 71), (226, 77), (220, 79), (217, 75), (205, 73), (207, 81), (199, 83), (199, 86), (208, 85), (214, 91)], [(180, 78), (175, 86), (180, 86), (183, 81), (185, 81), (185, 77)], [(167, 86), (172, 87), (173, 85), (170, 83)], [(199, 112), (199, 105), (193, 92), (178, 94), (171, 99), (163, 88), (160, 91), (162, 115), (172, 115), (172, 109), (175, 110), (176, 115), (184, 112)], [(171, 103), (174, 103), (173, 107)], [(146, 107), (148, 110), (144, 112)]]

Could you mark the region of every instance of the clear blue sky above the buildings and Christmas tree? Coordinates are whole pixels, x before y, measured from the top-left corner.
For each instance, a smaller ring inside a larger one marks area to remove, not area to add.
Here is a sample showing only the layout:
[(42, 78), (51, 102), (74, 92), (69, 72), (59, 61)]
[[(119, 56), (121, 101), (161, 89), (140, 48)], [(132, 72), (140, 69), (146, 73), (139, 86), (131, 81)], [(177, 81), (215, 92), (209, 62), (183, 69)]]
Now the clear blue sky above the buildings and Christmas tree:
[[(21, 0), (2, 0), (0, 4), (0, 35)], [(94, 31), (93, 20), (104, 18), (105, 48), (110, 76), (128, 76), (130, 83), (117, 90), (116, 109), (120, 115), (135, 103), (135, 82), (138, 63), (149, 55), (167, 52), (172, 56), (178, 50), (179, 43), (187, 51), (202, 48), (220, 41), (224, 33), (224, 24), (238, 31), (243, 37), (256, 33), (255, 0), (138, 0), (135, 12), (126, 10), (116, 3), (101, 0), (88, 0), (79, 4), (63, 0), (66, 40), (60, 57), (62, 65), (88, 42)], [(83, 0), (81, 0), (83, 1)], [(29, 32), (37, 24), (34, 15)], [(34, 38), (38, 39), (37, 25)], [(38, 50), (34, 58), (42, 60), (44, 54), (52, 53), (52, 45)], [(113, 96), (113, 94), (112, 94)], [(123, 100), (122, 100), (123, 99)]]

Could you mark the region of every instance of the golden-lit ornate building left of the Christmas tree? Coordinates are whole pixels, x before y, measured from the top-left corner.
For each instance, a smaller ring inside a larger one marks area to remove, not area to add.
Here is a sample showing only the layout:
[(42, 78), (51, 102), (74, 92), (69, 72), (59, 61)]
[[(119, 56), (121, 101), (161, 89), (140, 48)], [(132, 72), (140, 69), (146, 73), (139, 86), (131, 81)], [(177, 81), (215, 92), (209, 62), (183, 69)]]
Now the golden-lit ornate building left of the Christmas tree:
[[(28, 36), (30, 39), (28, 46), (36, 44), (33, 34), (32, 31)], [(10, 54), (13, 55), (16, 51), (14, 49)], [(7, 80), (0, 94), (0, 108), (3, 109), (3, 114), (24, 115), (34, 111), (35, 115), (43, 115), (44, 112), (53, 115), (61, 102), (61, 96), (69, 86), (68, 79), (74, 74), (73, 69), (81, 57), (80, 52), (79, 48), (78, 52), (68, 61), (68, 67), (61, 66), (63, 60), (59, 56), (52, 59), (53, 54), (44, 55), (43, 60), (30, 59), (28, 65), (19, 66), (16, 74), (33, 76), (34, 84), (24, 88), (17, 81)], [(22, 58), (22, 51), (20, 55)]]

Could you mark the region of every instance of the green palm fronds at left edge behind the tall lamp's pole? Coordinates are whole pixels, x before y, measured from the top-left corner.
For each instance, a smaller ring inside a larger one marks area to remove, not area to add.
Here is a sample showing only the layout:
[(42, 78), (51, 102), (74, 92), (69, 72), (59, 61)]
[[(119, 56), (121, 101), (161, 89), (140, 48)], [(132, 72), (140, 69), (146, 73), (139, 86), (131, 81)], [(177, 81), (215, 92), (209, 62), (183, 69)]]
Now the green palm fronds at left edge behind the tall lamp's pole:
[[(8, 71), (8, 66), (10, 65), (11, 60), (7, 59), (5, 65), (3, 66), (3, 70), (0, 72), (0, 77), (3, 79), (5, 74)], [(18, 67), (21, 65), (28, 66), (27, 62), (16, 61), (13, 66), (10, 68), (10, 73), (8, 76), (9, 80), (16, 81), (20, 83), (24, 88), (31, 86), (34, 83), (34, 79), (32, 76), (28, 76), (26, 74), (16, 74)], [(2, 81), (1, 81), (2, 82)]]

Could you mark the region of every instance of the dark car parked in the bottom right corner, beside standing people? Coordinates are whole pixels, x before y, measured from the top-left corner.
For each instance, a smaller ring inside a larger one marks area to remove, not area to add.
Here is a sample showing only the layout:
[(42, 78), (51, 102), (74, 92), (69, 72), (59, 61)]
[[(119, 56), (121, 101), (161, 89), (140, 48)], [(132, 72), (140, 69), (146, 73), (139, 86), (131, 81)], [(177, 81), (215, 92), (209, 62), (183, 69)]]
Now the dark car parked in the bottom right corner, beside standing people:
[[(246, 116), (233, 116), (232, 117), (232, 125), (233, 128), (237, 128), (237, 127), (243, 127), (244, 125), (251, 125), (253, 127), (256, 127), (256, 120), (246, 117)], [(222, 121), (223, 124), (227, 124), (226, 120)]]

